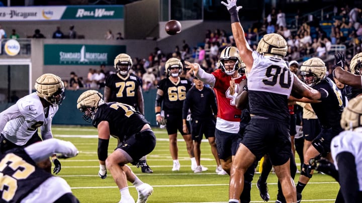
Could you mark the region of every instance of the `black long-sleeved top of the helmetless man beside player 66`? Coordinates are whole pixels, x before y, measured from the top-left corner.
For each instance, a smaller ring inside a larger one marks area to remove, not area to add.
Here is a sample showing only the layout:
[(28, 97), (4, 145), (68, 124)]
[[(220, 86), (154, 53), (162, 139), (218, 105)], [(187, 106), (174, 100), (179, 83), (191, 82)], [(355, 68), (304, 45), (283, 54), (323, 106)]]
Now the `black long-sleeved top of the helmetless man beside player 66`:
[[(189, 109), (193, 120), (213, 119), (217, 114), (215, 93), (204, 87), (201, 91), (195, 86), (186, 94), (183, 107), (183, 119), (187, 118)], [(213, 114), (214, 113), (214, 114)]]

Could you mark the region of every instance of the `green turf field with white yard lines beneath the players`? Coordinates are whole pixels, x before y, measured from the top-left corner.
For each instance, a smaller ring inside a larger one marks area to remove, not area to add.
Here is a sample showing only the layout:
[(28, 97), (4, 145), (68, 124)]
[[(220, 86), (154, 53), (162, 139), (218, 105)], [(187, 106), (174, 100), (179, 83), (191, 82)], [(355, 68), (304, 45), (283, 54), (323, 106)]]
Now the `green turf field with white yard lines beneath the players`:
[[(172, 172), (172, 159), (168, 150), (168, 137), (164, 129), (153, 128), (157, 137), (156, 148), (147, 156), (147, 162), (154, 173), (145, 174), (140, 168), (131, 166), (133, 172), (144, 182), (153, 186), (149, 197), (152, 202), (228, 202), (228, 175), (215, 173), (216, 162), (211, 154), (208, 142), (201, 144), (201, 164), (209, 170), (194, 174), (182, 136), (178, 135), (178, 159), (180, 171)], [(62, 159), (62, 169), (58, 173), (71, 186), (80, 202), (118, 202), (120, 192), (112, 175), (108, 171), (106, 179), (98, 176), (97, 129), (93, 127), (53, 126), (55, 138), (71, 141), (79, 150), (78, 156)], [(111, 138), (109, 153), (116, 147), (117, 140)], [(299, 159), (297, 165), (299, 165)], [(263, 202), (256, 188), (254, 176), (251, 189), (251, 202)], [(297, 182), (299, 174), (295, 181)], [(129, 183), (131, 195), (137, 200), (137, 191)], [(277, 177), (270, 173), (268, 178), (269, 202), (275, 202), (277, 195)], [(334, 202), (339, 189), (338, 183), (330, 176), (314, 174), (303, 191), (302, 202)]]

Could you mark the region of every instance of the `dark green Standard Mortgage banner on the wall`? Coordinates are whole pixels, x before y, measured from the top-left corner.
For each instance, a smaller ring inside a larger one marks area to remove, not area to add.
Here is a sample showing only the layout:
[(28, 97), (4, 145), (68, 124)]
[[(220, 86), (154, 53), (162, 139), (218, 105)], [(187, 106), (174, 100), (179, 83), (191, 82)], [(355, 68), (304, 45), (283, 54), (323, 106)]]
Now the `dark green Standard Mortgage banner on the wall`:
[(112, 65), (125, 45), (44, 45), (44, 65)]

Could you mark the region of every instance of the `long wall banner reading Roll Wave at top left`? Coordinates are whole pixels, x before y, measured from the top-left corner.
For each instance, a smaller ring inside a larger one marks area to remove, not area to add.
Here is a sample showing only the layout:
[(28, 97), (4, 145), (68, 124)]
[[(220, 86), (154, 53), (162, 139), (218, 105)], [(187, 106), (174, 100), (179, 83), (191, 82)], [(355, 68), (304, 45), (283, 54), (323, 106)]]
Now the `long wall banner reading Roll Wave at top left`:
[(82, 19), (124, 19), (123, 5), (2, 7), (0, 21), (49, 21)]

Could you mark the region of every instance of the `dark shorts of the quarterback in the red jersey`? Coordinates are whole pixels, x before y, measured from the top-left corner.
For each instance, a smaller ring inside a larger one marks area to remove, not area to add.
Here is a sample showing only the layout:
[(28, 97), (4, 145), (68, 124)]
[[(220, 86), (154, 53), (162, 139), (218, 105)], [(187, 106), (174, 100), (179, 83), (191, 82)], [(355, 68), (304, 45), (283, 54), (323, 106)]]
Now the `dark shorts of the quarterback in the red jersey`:
[(215, 129), (215, 142), (220, 159), (226, 160), (236, 154), (238, 148), (238, 133), (224, 132)]

